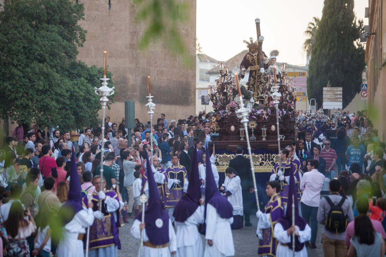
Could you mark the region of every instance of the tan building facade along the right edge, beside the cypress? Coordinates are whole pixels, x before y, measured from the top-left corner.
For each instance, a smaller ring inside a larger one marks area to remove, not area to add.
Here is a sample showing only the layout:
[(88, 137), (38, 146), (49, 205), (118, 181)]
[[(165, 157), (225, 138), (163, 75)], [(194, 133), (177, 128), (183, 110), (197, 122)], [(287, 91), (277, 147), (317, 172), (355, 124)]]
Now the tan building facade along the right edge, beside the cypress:
[[(383, 3), (382, 3), (383, 2)], [(369, 31), (366, 41), (367, 90), (369, 115), (378, 137), (384, 142), (386, 133), (386, 4), (369, 0)]]

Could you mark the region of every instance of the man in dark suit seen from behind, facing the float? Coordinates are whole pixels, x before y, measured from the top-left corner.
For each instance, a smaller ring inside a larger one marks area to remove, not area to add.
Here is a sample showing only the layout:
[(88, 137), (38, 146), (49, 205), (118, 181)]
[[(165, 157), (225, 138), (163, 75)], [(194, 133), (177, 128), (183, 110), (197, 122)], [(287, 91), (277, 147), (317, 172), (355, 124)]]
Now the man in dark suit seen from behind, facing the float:
[(244, 148), (236, 147), (236, 157), (229, 161), (229, 167), (234, 168), (241, 180), (242, 203), (244, 207), (245, 227), (252, 226), (249, 220), (251, 212), (251, 203), (249, 202), (249, 194), (253, 192), (253, 182), (251, 173), (251, 163), (249, 159), (243, 156)]

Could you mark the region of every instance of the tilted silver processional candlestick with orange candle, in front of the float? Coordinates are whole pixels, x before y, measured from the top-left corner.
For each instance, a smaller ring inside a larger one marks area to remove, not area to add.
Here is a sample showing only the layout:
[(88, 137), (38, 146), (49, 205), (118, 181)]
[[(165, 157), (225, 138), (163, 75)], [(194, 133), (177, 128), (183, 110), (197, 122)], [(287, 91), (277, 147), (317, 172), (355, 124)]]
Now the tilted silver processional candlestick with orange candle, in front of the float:
[(247, 138), (247, 147), (248, 147), (249, 161), (251, 163), (252, 180), (253, 180), (254, 192), (256, 197), (257, 210), (259, 211), (260, 210), (259, 197), (257, 196), (257, 186), (256, 186), (256, 178), (255, 178), (255, 173), (253, 168), (251, 143), (249, 142), (249, 134), (248, 134), (248, 117), (249, 117), (250, 110), (244, 107), (244, 102), (242, 99), (242, 95), (240, 93), (239, 75), (236, 73), (235, 77), (236, 77), (237, 89), (239, 91), (239, 100), (240, 100), (240, 104), (239, 104), (240, 109), (236, 111), (236, 116), (237, 118), (241, 119), (240, 122), (244, 126), (244, 133), (245, 133), (245, 137)]

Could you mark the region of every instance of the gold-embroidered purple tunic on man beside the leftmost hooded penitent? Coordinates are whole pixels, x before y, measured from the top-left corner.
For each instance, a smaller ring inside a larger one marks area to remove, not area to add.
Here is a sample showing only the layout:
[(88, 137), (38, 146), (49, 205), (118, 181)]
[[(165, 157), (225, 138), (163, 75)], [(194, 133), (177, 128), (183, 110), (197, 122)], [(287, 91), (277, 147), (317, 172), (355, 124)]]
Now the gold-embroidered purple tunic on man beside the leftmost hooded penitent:
[[(92, 202), (94, 204), (93, 211), (99, 210), (99, 192), (93, 193)], [(109, 196), (119, 202), (118, 195), (113, 190), (105, 191), (106, 196)], [(107, 212), (102, 201), (102, 213), (105, 215), (102, 220), (94, 219), (93, 225), (90, 226), (90, 241), (89, 250), (108, 247), (111, 245), (117, 245), (118, 249), (121, 249), (119, 240), (119, 227), (123, 226), (122, 215), (120, 214), (119, 208), (115, 211), (118, 220), (115, 220), (113, 213)], [(87, 196), (83, 197), (83, 206), (88, 208)], [(87, 235), (83, 237), (83, 249), (86, 249)]]

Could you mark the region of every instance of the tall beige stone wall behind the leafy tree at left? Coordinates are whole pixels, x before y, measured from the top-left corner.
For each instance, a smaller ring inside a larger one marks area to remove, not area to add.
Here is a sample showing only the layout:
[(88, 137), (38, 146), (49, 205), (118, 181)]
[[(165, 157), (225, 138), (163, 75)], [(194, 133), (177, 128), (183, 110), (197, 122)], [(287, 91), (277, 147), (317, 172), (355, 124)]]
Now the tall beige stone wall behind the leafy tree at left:
[[(113, 74), (118, 92), (111, 109), (106, 110), (112, 122), (120, 123), (125, 117), (126, 100), (135, 101), (135, 118), (142, 123), (149, 121), (145, 106), (147, 76), (151, 77), (155, 119), (160, 118), (161, 113), (165, 113), (169, 121), (195, 113), (196, 0), (175, 2), (188, 3), (190, 7), (185, 13), (188, 21), (181, 22), (178, 27), (185, 43), (184, 56), (171, 53), (162, 39), (151, 40), (146, 50), (139, 50), (138, 44), (148, 22), (136, 21), (135, 16), (142, 6), (133, 1), (82, 0), (85, 20), (80, 25), (87, 34), (84, 47), (78, 49), (78, 59), (101, 67), (103, 51), (107, 50), (107, 69)], [(184, 64), (183, 57), (192, 60), (190, 66)]]

